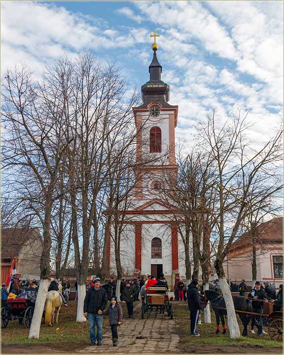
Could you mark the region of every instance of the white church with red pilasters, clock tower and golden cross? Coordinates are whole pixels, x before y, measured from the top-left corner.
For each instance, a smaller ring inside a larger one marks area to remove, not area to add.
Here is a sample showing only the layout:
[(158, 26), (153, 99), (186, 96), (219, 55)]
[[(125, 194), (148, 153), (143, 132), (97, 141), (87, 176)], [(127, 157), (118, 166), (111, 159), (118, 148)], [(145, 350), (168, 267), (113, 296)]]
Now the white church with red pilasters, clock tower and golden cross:
[[(136, 194), (127, 211), (120, 259), (126, 275), (164, 275), (169, 285), (185, 277), (184, 248), (172, 206), (159, 199), (165, 174), (176, 176), (175, 128), (178, 106), (169, 104), (170, 86), (162, 81), (154, 31), (149, 81), (142, 85), (142, 105), (133, 107), (137, 130)], [(181, 222), (182, 223), (182, 222)], [(115, 274), (113, 246), (110, 273)]]

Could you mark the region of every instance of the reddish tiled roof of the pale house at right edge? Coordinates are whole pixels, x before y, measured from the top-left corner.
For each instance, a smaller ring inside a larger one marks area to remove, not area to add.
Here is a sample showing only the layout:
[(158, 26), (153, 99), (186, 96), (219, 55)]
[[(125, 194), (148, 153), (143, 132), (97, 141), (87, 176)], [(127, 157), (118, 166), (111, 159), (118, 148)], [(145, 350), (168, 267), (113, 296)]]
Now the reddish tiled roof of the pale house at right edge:
[[(261, 242), (283, 242), (283, 217), (275, 217), (257, 227), (257, 243)], [(229, 251), (252, 244), (250, 232), (244, 233), (229, 248)]]

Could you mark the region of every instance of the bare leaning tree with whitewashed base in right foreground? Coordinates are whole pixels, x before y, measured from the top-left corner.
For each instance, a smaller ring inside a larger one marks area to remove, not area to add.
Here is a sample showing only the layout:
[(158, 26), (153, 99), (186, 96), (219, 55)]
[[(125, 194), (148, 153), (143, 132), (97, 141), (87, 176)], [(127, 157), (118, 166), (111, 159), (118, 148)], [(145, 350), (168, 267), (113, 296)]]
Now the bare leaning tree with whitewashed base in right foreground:
[[(282, 131), (270, 139), (264, 146), (255, 150), (251, 142), (245, 138), (249, 129), (246, 123), (248, 111), (244, 118), (241, 110), (218, 128), (215, 112), (208, 121), (201, 124), (201, 144), (211, 157), (216, 167), (217, 182), (214, 192), (217, 197), (218, 209), (215, 210), (216, 248), (215, 270), (226, 303), (228, 326), (231, 338), (239, 338), (240, 330), (236, 319), (234, 304), (227, 280), (223, 262), (231, 244), (238, 236), (242, 222), (248, 214), (248, 196), (250, 189), (263, 173), (271, 174), (282, 159)], [(225, 243), (225, 237), (228, 236)]]

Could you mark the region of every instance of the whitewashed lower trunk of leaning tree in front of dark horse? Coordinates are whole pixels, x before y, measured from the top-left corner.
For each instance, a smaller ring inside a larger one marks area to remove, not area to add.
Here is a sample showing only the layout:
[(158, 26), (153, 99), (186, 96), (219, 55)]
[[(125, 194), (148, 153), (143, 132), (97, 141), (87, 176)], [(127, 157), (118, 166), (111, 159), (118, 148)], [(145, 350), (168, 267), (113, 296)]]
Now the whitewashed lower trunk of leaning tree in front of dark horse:
[(226, 304), (228, 328), (230, 331), (231, 339), (238, 339), (241, 337), (241, 332), (237, 320), (237, 315), (235, 312), (234, 302), (231, 294), (230, 287), (227, 283), (226, 278), (219, 278), (220, 288), (223, 293), (223, 297)]

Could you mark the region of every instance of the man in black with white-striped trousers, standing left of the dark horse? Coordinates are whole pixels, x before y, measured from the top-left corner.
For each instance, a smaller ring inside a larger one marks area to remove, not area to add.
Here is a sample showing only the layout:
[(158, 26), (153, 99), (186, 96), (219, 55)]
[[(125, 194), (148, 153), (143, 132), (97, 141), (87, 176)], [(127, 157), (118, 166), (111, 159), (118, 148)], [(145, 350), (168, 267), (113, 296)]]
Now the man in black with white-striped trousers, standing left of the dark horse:
[(186, 291), (187, 304), (190, 310), (190, 334), (194, 336), (200, 336), (200, 334), (198, 334), (196, 331), (196, 325), (201, 310), (201, 303), (197, 287), (198, 281), (192, 280), (191, 284), (188, 285)]

